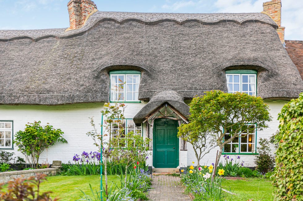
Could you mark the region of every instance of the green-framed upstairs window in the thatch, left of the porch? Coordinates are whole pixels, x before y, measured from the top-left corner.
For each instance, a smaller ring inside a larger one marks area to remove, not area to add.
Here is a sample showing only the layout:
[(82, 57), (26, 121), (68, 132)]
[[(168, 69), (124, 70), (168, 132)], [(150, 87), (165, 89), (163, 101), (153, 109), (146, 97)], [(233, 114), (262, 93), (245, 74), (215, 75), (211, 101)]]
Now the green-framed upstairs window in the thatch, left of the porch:
[(139, 102), (140, 71), (112, 70), (109, 75), (111, 102)]

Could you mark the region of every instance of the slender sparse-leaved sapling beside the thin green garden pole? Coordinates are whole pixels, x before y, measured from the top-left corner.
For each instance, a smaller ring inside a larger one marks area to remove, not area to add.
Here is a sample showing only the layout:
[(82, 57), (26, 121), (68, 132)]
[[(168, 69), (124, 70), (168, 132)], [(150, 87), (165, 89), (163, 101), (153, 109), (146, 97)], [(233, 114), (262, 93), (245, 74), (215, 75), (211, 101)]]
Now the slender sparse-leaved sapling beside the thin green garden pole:
[[(91, 136), (95, 141), (95, 145), (102, 150), (102, 159), (101, 163), (104, 161), (104, 176), (105, 176), (105, 195), (108, 196), (108, 182), (107, 182), (107, 161), (110, 155), (114, 153), (117, 149), (113, 149), (113, 147), (117, 147), (115, 144), (117, 141), (113, 138), (112, 127), (118, 127), (120, 123), (122, 123), (122, 119), (124, 119), (124, 109), (125, 104), (115, 102), (113, 105), (110, 103), (104, 103), (104, 110), (101, 111), (103, 117), (105, 117), (104, 122), (102, 122), (101, 127), (104, 128), (104, 133), (100, 133), (97, 131), (94, 120), (91, 118), (91, 124), (94, 128), (93, 131), (87, 132), (88, 136)], [(117, 132), (117, 138), (123, 133), (123, 128), (121, 128)], [(103, 137), (107, 137), (106, 140)], [(102, 182), (102, 181), (101, 181)]]

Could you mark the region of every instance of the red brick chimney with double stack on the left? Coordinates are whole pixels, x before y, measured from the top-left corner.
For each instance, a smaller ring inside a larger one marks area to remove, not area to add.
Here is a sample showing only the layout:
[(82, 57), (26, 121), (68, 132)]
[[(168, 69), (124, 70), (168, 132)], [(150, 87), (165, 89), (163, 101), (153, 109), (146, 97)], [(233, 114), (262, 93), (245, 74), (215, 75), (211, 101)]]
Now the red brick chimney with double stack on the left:
[(87, 18), (97, 11), (97, 6), (90, 0), (70, 0), (67, 4), (70, 27), (67, 30), (80, 29)]

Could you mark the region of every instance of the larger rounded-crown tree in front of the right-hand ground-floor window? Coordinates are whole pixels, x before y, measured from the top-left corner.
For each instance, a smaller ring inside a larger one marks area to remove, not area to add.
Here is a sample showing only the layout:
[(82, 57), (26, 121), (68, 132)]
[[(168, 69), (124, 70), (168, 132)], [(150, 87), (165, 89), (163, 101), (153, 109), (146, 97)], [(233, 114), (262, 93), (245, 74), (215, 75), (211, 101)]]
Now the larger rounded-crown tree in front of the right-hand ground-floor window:
[[(224, 145), (241, 136), (245, 130), (254, 129), (254, 125), (257, 125), (258, 130), (267, 127), (266, 122), (271, 121), (268, 110), (268, 106), (260, 97), (245, 93), (228, 94), (219, 90), (208, 91), (204, 96), (194, 97), (190, 103), (190, 117), (195, 123), (203, 128), (203, 131), (216, 134), (216, 145), (219, 146), (216, 166)], [(224, 141), (227, 133), (230, 138)], [(212, 178), (214, 177), (215, 171), (212, 175)]]

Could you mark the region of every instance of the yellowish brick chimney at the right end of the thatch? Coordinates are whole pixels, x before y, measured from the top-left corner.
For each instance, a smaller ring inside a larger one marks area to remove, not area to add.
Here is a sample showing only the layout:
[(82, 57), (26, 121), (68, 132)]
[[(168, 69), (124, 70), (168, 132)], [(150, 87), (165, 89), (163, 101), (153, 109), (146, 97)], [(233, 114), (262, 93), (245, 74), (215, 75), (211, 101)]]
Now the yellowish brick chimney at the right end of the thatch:
[(280, 41), (285, 45), (284, 41), (284, 30), (285, 27), (281, 26), (281, 0), (272, 0), (269, 2), (263, 3), (263, 12), (269, 15), (277, 24), (277, 33), (279, 35)]

